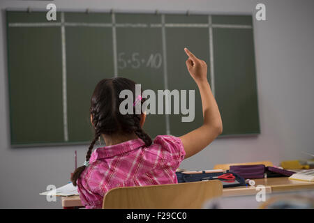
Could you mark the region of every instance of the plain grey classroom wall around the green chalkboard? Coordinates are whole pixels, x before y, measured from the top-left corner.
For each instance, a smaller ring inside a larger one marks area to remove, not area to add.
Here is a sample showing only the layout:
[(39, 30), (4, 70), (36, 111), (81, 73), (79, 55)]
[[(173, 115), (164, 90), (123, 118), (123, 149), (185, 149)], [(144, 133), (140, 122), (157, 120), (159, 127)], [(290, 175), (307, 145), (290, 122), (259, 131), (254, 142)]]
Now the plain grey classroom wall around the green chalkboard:
[[(47, 185), (64, 185), (87, 146), (10, 148), (6, 26), (3, 9), (45, 8), (48, 1), (0, 1), (0, 208), (61, 208), (38, 193)], [(267, 21), (254, 21), (257, 91), (261, 134), (216, 139), (185, 160), (185, 169), (211, 169), (214, 164), (306, 159), (314, 153), (314, 1), (252, 0), (55, 0), (57, 8), (121, 10), (199, 10), (209, 13), (252, 13), (265, 3)], [(31, 131), (31, 126), (29, 126)]]

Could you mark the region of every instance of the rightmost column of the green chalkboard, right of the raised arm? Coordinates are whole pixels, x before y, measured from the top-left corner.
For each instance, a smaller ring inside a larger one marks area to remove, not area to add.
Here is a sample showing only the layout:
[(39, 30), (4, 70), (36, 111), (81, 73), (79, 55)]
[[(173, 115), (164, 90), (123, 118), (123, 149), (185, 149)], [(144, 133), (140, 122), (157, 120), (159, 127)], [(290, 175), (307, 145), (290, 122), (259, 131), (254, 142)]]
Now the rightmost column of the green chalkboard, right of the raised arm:
[[(249, 24), (251, 17), (238, 20)], [(234, 17), (220, 16), (216, 21), (232, 24)], [(215, 95), (223, 134), (259, 133), (253, 30), (220, 27), (213, 29), (213, 36)]]

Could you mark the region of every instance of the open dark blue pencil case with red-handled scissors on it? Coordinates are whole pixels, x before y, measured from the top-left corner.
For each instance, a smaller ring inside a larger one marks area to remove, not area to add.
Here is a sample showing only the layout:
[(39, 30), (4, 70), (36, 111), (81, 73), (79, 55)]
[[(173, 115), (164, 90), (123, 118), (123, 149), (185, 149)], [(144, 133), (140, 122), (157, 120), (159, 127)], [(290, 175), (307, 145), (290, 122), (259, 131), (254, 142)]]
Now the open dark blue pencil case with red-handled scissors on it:
[[(223, 180), (223, 179), (216, 178), (217, 176), (220, 176), (226, 173), (232, 174), (234, 176), (234, 180)], [(204, 179), (207, 179), (207, 180), (220, 180), (223, 183), (223, 188), (238, 187), (238, 186), (246, 185), (246, 181), (244, 180), (244, 178), (230, 171), (219, 172), (219, 173), (205, 173), (203, 171), (203, 173), (201, 174), (183, 174), (181, 172), (176, 172), (176, 174), (177, 174), (178, 183), (197, 182), (197, 181), (202, 181)]]

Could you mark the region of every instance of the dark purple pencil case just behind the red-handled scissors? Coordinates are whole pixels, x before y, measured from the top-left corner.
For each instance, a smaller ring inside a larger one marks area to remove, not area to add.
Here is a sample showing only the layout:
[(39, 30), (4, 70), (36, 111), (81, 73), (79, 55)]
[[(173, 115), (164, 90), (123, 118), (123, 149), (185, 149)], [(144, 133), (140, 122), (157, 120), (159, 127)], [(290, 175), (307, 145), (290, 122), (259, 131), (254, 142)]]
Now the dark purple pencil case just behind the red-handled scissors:
[(230, 166), (230, 171), (245, 179), (264, 178), (265, 165), (257, 164)]

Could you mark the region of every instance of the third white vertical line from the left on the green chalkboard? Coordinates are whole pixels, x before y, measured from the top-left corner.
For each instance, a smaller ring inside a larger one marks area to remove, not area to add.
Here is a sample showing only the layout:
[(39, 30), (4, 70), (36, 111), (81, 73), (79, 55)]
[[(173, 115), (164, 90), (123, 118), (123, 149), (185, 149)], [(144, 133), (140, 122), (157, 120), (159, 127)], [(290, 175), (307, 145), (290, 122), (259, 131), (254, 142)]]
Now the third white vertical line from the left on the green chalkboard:
[[(165, 14), (161, 15), (161, 36), (162, 36), (162, 43), (163, 43), (163, 79), (165, 84), (165, 89), (168, 89), (168, 74), (167, 74), (167, 45), (165, 39)], [(165, 100), (165, 107), (167, 111), (168, 100)], [(169, 121), (169, 114), (165, 114), (165, 122), (166, 122), (166, 132), (170, 134), (170, 121)]]

